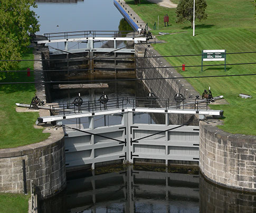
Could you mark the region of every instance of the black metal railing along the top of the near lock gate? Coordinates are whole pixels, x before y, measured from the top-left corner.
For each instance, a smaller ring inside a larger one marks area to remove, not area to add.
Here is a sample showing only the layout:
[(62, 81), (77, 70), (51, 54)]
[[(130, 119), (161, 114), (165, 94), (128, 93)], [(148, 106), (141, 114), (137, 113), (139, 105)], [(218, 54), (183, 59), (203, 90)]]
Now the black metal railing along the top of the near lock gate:
[(202, 99), (158, 99), (156, 97), (117, 97), (98, 100), (89, 100), (86, 102), (73, 102), (68, 104), (51, 105), (50, 110), (53, 114), (69, 114), (69, 113), (84, 113), (88, 111), (108, 110), (108, 109), (124, 109), (125, 107), (143, 108), (165, 108), (168, 109), (207, 109), (210, 100)]

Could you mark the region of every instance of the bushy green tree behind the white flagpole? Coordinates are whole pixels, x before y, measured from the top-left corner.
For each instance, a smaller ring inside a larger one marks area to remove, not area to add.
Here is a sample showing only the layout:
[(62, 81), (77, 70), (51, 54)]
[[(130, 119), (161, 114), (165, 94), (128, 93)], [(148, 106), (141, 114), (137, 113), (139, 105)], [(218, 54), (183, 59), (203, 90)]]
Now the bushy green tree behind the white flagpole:
[[(205, 9), (207, 7), (206, 0), (195, 0), (195, 19), (199, 21), (206, 19), (207, 14)], [(193, 27), (193, 0), (181, 0), (176, 8), (176, 23), (184, 23), (185, 21), (191, 22), (191, 28)]]

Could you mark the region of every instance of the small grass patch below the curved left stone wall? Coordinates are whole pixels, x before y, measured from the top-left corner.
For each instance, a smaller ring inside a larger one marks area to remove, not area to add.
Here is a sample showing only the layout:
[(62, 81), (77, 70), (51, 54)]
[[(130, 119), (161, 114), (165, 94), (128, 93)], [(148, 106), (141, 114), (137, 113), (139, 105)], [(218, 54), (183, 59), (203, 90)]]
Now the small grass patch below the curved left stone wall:
[(27, 213), (29, 195), (0, 193), (0, 213)]

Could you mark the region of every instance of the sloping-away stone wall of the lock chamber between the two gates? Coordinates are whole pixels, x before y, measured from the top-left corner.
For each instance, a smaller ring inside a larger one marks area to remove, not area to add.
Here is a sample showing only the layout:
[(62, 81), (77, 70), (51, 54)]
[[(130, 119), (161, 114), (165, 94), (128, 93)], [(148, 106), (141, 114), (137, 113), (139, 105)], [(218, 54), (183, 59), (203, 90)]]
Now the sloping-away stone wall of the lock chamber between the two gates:
[[(145, 50), (146, 49), (146, 50)], [(153, 56), (153, 57), (151, 57)], [(156, 56), (156, 57), (154, 57)], [(147, 45), (135, 45), (135, 57), (137, 78), (171, 78), (182, 77), (174, 68), (170, 68), (167, 60), (163, 57), (157, 57), (160, 54), (152, 47)], [(167, 67), (167, 68), (157, 68)], [(156, 79), (156, 80), (142, 80), (144, 85), (150, 92), (153, 92), (159, 99), (174, 99), (177, 93), (181, 93), (186, 99), (195, 99), (195, 96), (200, 96), (199, 93), (185, 80), (185, 79)], [(158, 100), (159, 100), (158, 99)], [(159, 102), (159, 101), (158, 101)], [(170, 106), (175, 106), (176, 102), (170, 101)], [(188, 120), (193, 120), (191, 115), (169, 115), (172, 124), (183, 124)], [(191, 125), (198, 125), (194, 123)]]

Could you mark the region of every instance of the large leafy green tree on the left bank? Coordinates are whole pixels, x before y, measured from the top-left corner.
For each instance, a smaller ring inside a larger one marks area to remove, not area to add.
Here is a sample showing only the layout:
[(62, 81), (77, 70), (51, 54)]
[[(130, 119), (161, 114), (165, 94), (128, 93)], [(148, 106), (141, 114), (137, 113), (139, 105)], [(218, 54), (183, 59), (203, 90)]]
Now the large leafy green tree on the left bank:
[[(30, 45), (30, 34), (39, 31), (34, 0), (0, 0), (0, 59), (17, 60)], [(17, 62), (0, 62), (0, 70), (14, 70)], [(4, 78), (0, 73), (0, 79)]]

